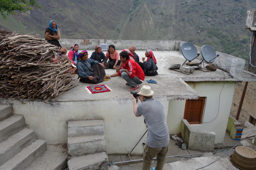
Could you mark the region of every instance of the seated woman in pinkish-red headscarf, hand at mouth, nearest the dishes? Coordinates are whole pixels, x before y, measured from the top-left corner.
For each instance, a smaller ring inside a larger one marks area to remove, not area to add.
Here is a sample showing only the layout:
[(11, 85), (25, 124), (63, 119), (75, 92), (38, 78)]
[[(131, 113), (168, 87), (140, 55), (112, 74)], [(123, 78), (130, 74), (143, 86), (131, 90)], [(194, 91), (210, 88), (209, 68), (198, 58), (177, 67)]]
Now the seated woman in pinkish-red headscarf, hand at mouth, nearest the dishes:
[[(145, 57), (147, 57), (147, 60), (145, 61)], [(152, 52), (152, 50), (146, 50), (145, 57), (142, 57), (142, 62), (139, 62), (139, 66), (142, 68), (145, 76), (156, 76), (157, 73), (157, 66), (156, 66), (156, 59)]]

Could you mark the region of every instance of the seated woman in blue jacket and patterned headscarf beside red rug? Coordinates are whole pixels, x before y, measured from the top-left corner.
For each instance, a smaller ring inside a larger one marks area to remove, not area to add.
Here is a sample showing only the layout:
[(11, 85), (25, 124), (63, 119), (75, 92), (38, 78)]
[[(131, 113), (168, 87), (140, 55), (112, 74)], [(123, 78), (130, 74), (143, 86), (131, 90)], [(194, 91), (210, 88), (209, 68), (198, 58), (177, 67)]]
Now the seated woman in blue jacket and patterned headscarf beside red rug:
[(78, 58), (77, 74), (80, 78), (80, 82), (98, 84), (104, 81), (106, 73), (102, 63), (88, 58), (88, 52), (86, 50), (83, 50)]

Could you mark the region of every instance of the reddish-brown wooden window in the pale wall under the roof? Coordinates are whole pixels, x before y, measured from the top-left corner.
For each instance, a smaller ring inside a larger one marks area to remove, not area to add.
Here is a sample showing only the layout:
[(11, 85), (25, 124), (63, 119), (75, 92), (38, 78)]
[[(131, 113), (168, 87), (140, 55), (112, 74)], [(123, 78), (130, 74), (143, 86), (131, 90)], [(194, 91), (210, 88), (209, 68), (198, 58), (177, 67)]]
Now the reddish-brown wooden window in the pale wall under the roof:
[(186, 119), (189, 124), (201, 124), (204, 103), (205, 97), (199, 97), (197, 100), (186, 100), (183, 119)]

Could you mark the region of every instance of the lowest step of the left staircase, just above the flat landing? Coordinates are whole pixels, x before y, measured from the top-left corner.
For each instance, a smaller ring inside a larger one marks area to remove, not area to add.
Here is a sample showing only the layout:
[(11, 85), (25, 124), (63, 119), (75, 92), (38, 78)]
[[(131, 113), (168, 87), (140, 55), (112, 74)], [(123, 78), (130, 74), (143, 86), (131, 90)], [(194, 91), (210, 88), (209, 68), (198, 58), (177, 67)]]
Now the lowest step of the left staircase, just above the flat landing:
[(36, 140), (0, 166), (0, 170), (23, 170), (46, 150), (46, 142)]

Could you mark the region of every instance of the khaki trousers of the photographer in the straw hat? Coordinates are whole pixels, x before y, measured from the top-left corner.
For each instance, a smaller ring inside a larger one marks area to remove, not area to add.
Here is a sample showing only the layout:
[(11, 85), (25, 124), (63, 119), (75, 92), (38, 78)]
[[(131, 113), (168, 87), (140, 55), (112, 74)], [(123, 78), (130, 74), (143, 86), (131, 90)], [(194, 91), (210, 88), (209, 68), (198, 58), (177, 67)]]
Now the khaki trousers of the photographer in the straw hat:
[(165, 155), (168, 151), (168, 144), (165, 147), (154, 148), (145, 144), (143, 151), (143, 165), (142, 170), (150, 170), (151, 161), (156, 156), (157, 164), (155, 170), (162, 170), (165, 160)]

